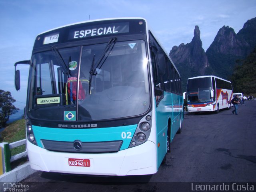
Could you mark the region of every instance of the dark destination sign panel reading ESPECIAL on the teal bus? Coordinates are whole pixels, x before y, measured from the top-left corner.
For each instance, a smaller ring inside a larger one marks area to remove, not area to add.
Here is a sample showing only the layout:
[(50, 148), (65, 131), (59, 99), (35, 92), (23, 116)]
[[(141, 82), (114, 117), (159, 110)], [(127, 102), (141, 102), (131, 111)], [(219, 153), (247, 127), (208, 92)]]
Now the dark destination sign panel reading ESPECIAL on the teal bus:
[(77, 28), (71, 30), (68, 39), (88, 38), (93, 36), (128, 33), (129, 23), (102, 24), (88, 28)]

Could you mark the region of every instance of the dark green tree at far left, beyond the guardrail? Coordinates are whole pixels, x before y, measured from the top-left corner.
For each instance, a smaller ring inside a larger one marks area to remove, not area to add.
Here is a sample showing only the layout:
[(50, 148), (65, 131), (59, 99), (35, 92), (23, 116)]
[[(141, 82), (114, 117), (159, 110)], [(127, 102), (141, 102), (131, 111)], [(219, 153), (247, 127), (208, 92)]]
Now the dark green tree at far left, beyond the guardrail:
[(16, 102), (9, 91), (0, 89), (0, 128), (6, 125), (10, 115), (15, 114), (19, 109), (13, 103)]

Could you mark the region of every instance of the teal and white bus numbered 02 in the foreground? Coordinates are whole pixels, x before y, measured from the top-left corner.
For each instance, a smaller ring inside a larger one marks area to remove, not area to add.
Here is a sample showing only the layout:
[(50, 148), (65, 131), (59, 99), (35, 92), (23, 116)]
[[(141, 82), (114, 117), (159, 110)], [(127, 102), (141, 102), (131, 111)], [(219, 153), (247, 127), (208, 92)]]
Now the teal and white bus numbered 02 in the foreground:
[[(27, 150), (35, 170), (92, 175), (158, 171), (181, 132), (180, 74), (144, 18), (70, 24), (36, 37)], [(79, 86), (78, 86), (79, 85)]]

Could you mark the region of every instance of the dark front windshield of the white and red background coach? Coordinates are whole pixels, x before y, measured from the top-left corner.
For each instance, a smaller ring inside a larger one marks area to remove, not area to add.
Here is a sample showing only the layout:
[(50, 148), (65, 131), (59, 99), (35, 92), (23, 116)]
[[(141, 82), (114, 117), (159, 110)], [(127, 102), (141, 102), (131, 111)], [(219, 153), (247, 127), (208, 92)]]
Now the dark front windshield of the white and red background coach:
[(188, 102), (211, 101), (212, 82), (210, 77), (188, 79), (187, 96)]

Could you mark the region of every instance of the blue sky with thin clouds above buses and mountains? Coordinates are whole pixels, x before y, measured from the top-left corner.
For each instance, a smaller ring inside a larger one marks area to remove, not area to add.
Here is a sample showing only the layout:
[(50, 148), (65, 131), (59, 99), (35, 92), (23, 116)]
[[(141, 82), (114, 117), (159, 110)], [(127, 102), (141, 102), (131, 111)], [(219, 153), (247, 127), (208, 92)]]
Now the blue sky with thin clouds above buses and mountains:
[(237, 33), (256, 17), (256, 0), (0, 0), (0, 8), (0, 89), (10, 91), (19, 108), (26, 102), (27, 69), (17, 92), (14, 63), (30, 59), (36, 36), (46, 30), (89, 18), (144, 17), (168, 53), (190, 43), (196, 25), (206, 51), (222, 26)]

